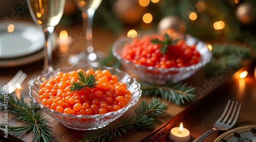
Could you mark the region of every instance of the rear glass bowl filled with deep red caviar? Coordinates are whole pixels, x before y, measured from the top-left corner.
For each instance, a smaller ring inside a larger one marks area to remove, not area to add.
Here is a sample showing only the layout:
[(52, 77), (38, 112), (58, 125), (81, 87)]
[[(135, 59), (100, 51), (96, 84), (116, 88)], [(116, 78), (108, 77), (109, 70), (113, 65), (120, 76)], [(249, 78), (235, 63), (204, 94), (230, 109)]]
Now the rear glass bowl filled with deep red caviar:
[[(212, 53), (196, 37), (177, 37), (164, 52), (165, 35), (150, 31), (138, 33), (135, 38), (121, 36), (114, 42), (112, 53), (125, 71), (141, 81), (160, 85), (167, 80), (178, 82), (209, 63)], [(155, 39), (163, 43), (153, 42)]]

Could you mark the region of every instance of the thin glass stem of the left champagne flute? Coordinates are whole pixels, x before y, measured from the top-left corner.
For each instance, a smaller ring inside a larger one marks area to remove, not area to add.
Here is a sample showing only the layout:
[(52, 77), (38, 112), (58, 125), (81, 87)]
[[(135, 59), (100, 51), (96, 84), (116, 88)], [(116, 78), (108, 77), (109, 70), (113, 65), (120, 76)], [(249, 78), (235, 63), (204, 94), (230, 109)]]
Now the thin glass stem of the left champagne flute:
[(43, 28), (46, 42), (45, 42), (45, 49), (44, 49), (44, 73), (49, 71), (53, 71), (52, 65), (52, 34), (54, 31), (54, 26), (48, 26)]

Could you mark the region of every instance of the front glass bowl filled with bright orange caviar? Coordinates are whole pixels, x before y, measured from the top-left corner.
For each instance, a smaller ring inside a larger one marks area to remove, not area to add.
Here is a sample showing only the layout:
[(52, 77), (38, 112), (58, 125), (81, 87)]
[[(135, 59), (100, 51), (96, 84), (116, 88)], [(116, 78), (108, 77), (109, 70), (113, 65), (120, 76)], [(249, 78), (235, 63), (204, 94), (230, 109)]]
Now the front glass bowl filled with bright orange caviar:
[[(95, 75), (96, 86), (71, 91), (72, 82), (77, 82), (81, 71)], [(29, 88), (35, 104), (56, 121), (76, 130), (95, 130), (108, 125), (141, 97), (140, 84), (134, 77), (105, 66), (54, 70), (38, 76)]]

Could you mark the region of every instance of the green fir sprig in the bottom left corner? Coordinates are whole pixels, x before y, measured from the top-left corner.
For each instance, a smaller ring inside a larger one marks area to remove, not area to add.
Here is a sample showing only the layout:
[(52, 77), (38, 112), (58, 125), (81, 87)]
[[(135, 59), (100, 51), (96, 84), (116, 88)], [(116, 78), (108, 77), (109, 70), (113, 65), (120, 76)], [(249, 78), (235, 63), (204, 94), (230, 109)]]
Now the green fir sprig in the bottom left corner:
[[(32, 130), (34, 141), (53, 141), (54, 137), (51, 131), (52, 127), (48, 126), (50, 123), (48, 119), (42, 119), (39, 112), (34, 112), (34, 110), (39, 109), (32, 101), (31, 105), (28, 105), (22, 96), (18, 98), (10, 95), (0, 95), (0, 106), (1, 109), (6, 109), (17, 113), (17, 120), (22, 120), (25, 126), (9, 126), (8, 133), (14, 134), (14, 136), (19, 136), (23, 132), (30, 132)], [(5, 99), (8, 99), (8, 106), (4, 105)], [(1, 128), (6, 128), (5, 125), (0, 125)]]

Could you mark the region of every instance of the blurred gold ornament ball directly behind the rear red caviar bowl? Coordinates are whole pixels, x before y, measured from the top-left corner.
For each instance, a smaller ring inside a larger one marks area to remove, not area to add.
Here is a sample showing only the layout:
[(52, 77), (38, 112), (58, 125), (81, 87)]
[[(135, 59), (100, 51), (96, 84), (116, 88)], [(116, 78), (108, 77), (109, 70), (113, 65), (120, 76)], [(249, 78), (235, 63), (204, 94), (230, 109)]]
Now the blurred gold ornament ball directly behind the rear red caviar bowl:
[(158, 23), (158, 33), (184, 33), (186, 30), (185, 25), (181, 22), (181, 19), (177, 16), (165, 16)]

